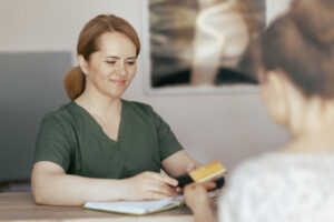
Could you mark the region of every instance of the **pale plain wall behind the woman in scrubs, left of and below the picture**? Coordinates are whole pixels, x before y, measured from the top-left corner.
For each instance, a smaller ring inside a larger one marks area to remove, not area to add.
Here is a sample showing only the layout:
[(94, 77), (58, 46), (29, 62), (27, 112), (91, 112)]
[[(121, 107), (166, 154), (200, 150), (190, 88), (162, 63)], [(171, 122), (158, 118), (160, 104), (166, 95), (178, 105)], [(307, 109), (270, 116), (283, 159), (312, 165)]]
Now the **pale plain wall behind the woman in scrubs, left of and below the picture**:
[[(139, 0), (0, 0), (0, 53), (70, 50), (75, 54), (80, 29), (98, 13), (127, 19), (143, 39)], [(216, 159), (230, 169), (247, 157), (287, 141), (287, 132), (275, 125), (258, 92), (146, 94), (143, 59), (141, 56), (137, 77), (125, 98), (151, 104), (199, 161)]]

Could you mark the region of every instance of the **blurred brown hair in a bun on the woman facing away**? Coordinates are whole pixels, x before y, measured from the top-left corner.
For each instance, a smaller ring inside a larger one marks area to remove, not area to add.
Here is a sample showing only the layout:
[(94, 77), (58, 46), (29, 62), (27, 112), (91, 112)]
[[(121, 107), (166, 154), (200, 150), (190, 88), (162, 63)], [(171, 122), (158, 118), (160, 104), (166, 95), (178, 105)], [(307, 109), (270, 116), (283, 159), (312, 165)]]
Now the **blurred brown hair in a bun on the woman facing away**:
[(265, 70), (283, 70), (306, 95), (334, 98), (334, 0), (297, 0), (259, 41)]

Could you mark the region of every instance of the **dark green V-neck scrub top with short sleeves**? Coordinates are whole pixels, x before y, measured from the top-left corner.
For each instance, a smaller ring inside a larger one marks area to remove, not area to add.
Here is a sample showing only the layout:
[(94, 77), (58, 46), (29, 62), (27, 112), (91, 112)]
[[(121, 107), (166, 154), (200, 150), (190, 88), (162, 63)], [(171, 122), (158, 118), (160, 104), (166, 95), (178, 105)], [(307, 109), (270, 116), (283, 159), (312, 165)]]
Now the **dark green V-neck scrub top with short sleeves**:
[(168, 124), (148, 104), (121, 100), (114, 141), (71, 101), (43, 117), (35, 162), (55, 162), (69, 174), (124, 179), (144, 171), (160, 172), (161, 161), (181, 149)]

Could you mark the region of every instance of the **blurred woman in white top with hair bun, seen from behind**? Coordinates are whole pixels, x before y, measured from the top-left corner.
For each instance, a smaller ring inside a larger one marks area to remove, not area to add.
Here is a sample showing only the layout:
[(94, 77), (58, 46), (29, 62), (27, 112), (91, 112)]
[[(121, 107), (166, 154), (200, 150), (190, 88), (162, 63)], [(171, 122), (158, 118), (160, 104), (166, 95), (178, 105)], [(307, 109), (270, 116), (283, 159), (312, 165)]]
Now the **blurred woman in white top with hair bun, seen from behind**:
[[(334, 221), (334, 1), (295, 1), (259, 48), (263, 99), (292, 140), (232, 172), (218, 221)], [(185, 196), (196, 222), (216, 220), (202, 185)]]

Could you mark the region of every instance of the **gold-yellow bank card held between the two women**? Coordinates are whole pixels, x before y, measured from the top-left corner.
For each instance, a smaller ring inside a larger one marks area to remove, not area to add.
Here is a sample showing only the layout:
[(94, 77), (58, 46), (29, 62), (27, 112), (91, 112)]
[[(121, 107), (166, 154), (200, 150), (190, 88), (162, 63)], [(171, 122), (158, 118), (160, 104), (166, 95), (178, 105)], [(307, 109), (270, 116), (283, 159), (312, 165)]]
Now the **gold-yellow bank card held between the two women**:
[(189, 172), (190, 178), (196, 182), (206, 182), (219, 178), (226, 173), (226, 169), (218, 162), (213, 161)]

